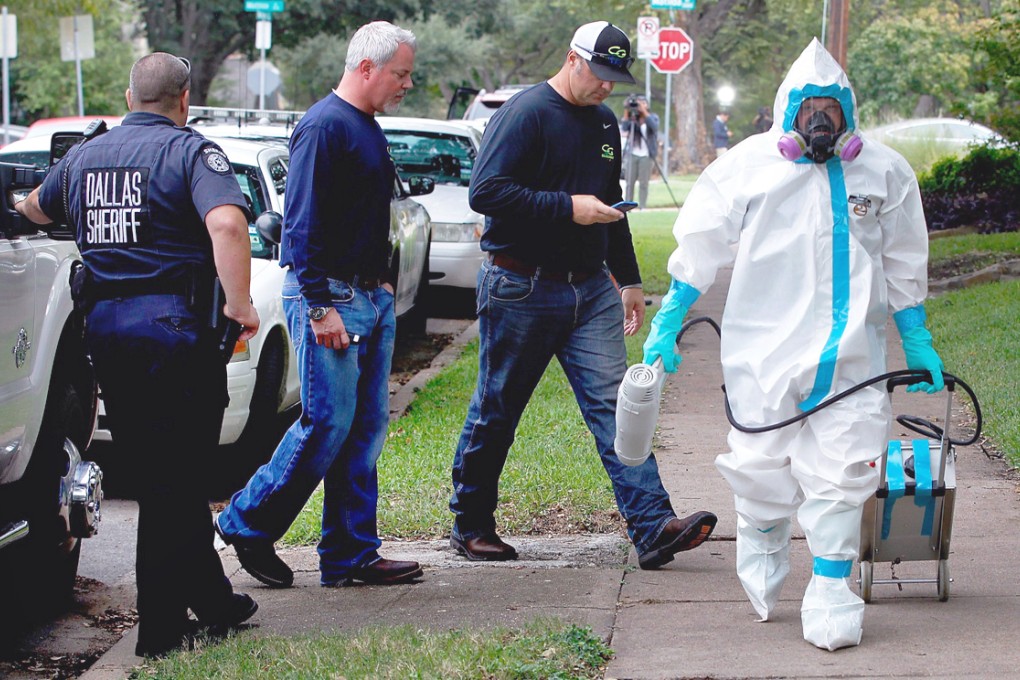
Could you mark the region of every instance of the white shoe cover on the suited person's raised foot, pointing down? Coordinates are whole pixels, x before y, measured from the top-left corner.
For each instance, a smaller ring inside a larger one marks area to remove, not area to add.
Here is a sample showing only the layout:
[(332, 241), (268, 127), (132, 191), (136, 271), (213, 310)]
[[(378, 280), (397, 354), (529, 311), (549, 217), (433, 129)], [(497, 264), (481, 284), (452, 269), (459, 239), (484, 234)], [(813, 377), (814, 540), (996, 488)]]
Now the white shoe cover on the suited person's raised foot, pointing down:
[(779, 601), (779, 592), (789, 573), (792, 533), (789, 519), (761, 531), (743, 517), (736, 517), (736, 576), (760, 621), (768, 621)]

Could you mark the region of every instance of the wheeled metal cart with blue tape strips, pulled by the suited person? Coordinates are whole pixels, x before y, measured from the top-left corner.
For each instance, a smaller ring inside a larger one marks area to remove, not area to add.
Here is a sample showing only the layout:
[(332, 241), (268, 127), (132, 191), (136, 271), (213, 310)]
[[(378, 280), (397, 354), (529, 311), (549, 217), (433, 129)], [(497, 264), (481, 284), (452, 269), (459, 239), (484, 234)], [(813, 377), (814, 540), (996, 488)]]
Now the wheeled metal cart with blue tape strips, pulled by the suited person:
[[(900, 416), (899, 422), (928, 438), (889, 441), (881, 458), (878, 490), (864, 506), (860, 583), (861, 598), (866, 603), (871, 601), (873, 584), (935, 583), (938, 599), (946, 601), (950, 597), (950, 538), (956, 505), (954, 444), (970, 442), (958, 442), (950, 437), (953, 395), (958, 379), (950, 374), (945, 374), (945, 430), (919, 418)], [(886, 388), (891, 396), (898, 385), (918, 381), (918, 377), (891, 378)], [(972, 394), (969, 389), (968, 393)], [(875, 563), (912, 561), (937, 563), (935, 577), (874, 578)]]

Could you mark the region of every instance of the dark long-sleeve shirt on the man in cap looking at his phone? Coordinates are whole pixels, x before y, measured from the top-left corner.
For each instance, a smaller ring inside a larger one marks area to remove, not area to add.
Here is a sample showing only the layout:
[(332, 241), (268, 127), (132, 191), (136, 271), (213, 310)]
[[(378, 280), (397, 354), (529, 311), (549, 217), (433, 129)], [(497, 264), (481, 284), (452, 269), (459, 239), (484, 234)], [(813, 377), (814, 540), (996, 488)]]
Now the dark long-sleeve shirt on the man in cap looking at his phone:
[(481, 250), (562, 271), (606, 263), (620, 285), (641, 283), (625, 217), (572, 219), (571, 196), (609, 205), (623, 198), (620, 156), (609, 107), (574, 106), (548, 83), (514, 95), (489, 121), (471, 172), (471, 208), (486, 215)]

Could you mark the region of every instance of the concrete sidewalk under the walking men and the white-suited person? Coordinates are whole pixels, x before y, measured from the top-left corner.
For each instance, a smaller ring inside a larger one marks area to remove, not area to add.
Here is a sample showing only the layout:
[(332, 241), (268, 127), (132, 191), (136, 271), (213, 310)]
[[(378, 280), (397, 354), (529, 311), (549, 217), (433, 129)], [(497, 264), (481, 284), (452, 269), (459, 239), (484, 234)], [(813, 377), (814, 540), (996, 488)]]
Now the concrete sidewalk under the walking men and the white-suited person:
[[(724, 294), (720, 280), (691, 316), (720, 319)], [(903, 368), (895, 330), (889, 336), (890, 369)], [(726, 450), (729, 427), (718, 339), (708, 326), (698, 326), (681, 350), (680, 371), (667, 381), (656, 456), (677, 514), (705, 509), (719, 516), (710, 542), (655, 572), (638, 570), (628, 543), (613, 535), (510, 537), (522, 559), (490, 565), (456, 557), (445, 540), (387, 543), (387, 557), (425, 566), (420, 583), (337, 589), (318, 585), (317, 556), (306, 547), (282, 551), (297, 571), (295, 587), (287, 590), (261, 586), (226, 550), (224, 566), (235, 586), (261, 606), (252, 620), (255, 634), (408, 623), (441, 630), (516, 626), (555, 616), (591, 626), (610, 642), (615, 656), (607, 678), (1020, 676), (1020, 496), (1002, 461), (976, 447), (958, 451), (948, 601), (938, 601), (933, 584), (876, 584), (861, 645), (817, 649), (801, 635), (800, 599), (811, 556), (798, 530), (778, 616), (756, 623), (734, 573), (732, 499), (713, 464)], [(894, 410), (940, 420), (945, 397), (898, 391)], [(894, 436), (910, 438), (899, 431)], [(895, 575), (933, 577), (935, 568), (934, 561), (907, 563)], [(889, 571), (890, 565), (876, 564), (875, 578)], [(133, 632), (83, 677), (126, 677), (141, 662), (134, 645)]]

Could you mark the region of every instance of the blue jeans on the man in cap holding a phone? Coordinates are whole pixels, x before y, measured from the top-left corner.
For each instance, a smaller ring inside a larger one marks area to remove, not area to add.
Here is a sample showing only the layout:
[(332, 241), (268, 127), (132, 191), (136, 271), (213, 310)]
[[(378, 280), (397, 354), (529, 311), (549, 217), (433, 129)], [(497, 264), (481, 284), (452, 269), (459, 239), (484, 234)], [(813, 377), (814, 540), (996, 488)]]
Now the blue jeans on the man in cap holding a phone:
[(500, 473), (521, 413), (555, 356), (595, 435), (630, 540), (640, 554), (647, 552), (675, 513), (655, 457), (629, 467), (613, 451), (626, 348), (623, 304), (609, 272), (567, 283), (486, 262), (477, 298), (478, 382), (454, 455), (454, 536), (495, 530)]

